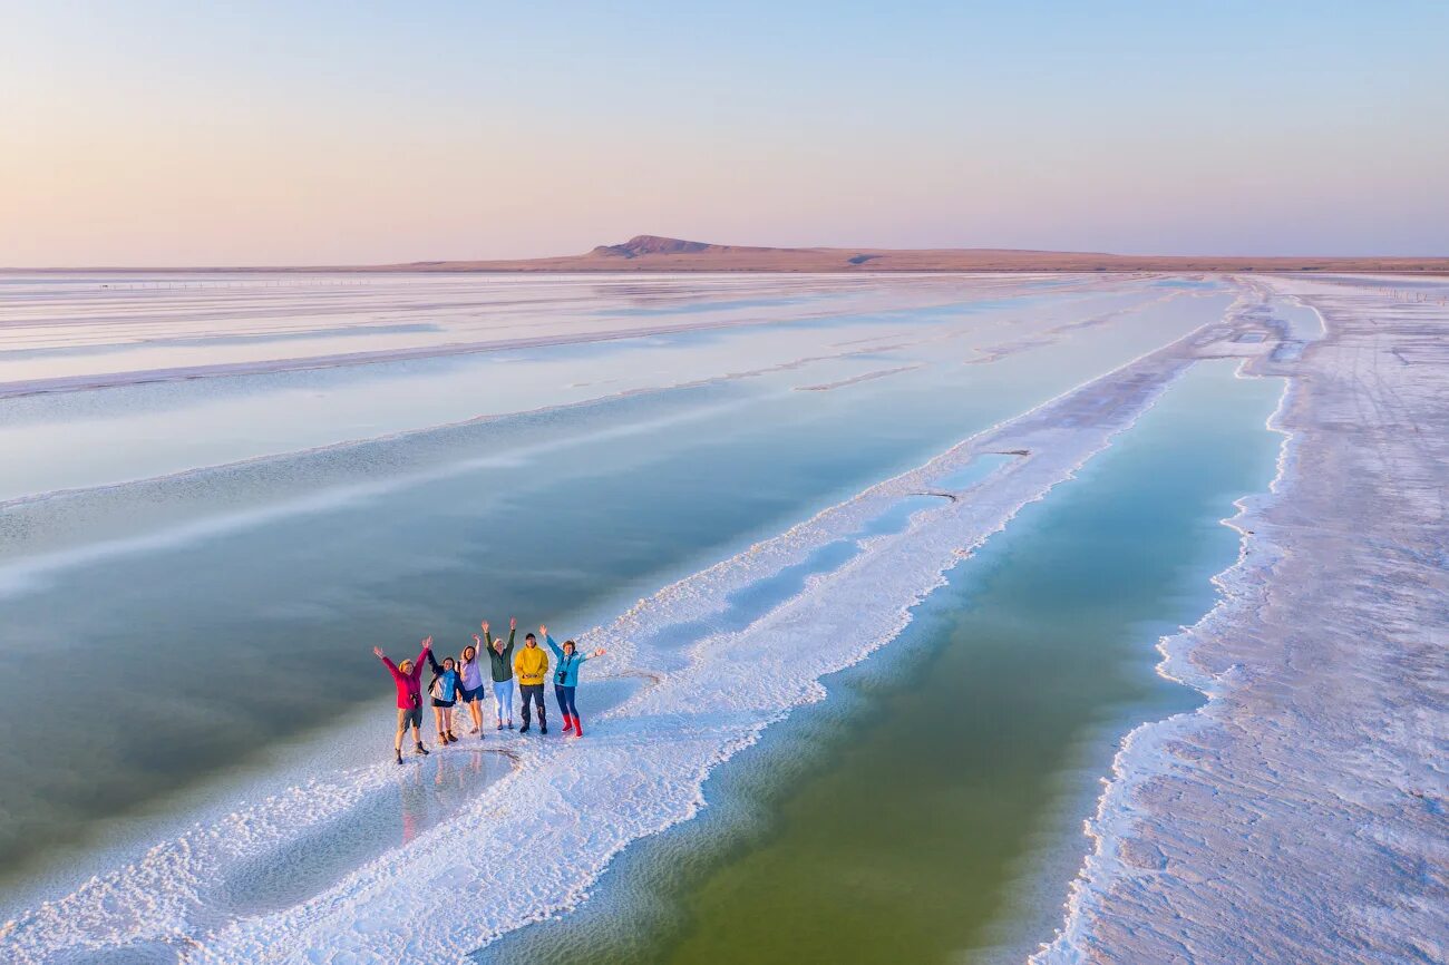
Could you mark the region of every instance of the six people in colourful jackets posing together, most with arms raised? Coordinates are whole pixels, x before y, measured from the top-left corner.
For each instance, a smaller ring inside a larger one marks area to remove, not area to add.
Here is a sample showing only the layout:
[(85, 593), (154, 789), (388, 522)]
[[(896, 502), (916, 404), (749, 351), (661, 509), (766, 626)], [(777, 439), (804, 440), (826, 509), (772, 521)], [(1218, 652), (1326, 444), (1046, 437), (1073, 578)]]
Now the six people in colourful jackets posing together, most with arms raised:
[[(483, 739), (483, 656), (488, 655), (488, 672), (493, 678), (493, 704), (497, 719), (497, 730), (507, 727), (513, 730), (513, 681), (519, 682), (519, 695), (523, 700), (523, 726), (519, 733), (527, 733), (533, 727), (532, 707), (538, 707), (539, 733), (548, 733), (548, 714), (543, 709), (543, 681), (548, 678), (549, 655), (539, 646), (538, 638), (525, 635), (523, 649), (514, 652), (513, 638), (517, 633), (519, 622), (509, 620), (509, 642), (494, 638), (488, 632), (488, 622), (483, 622), (483, 636), (472, 635), (472, 646), (462, 648), (456, 658), (445, 656), (442, 662), (433, 656), (433, 638), (423, 640), (423, 649), (416, 661), (404, 659), (394, 664), (388, 659), (383, 648), (374, 646), (372, 652), (387, 667), (397, 687), (397, 738), (393, 742), (393, 752), (397, 762), (403, 762), (403, 738), (409, 726), (413, 729), (413, 746), (417, 753), (426, 755), (423, 746), (423, 661), (433, 671), (432, 682), (427, 687), (427, 697), (433, 707), (433, 720), (438, 724), (438, 742), (455, 743), (454, 709), (462, 703), (468, 707), (472, 719), (472, 730)], [(578, 704), (574, 694), (578, 688), (578, 669), (590, 656), (603, 656), (604, 648), (590, 653), (581, 653), (574, 640), (564, 640), (564, 646), (554, 642), (548, 635), (548, 627), (540, 626), (539, 635), (554, 652), (556, 665), (554, 668), (554, 695), (558, 700), (558, 711), (564, 716), (564, 733), (575, 738), (584, 736), (584, 724), (578, 719)], [(481, 653), (480, 653), (481, 651)], [(459, 724), (461, 726), (461, 724)]]

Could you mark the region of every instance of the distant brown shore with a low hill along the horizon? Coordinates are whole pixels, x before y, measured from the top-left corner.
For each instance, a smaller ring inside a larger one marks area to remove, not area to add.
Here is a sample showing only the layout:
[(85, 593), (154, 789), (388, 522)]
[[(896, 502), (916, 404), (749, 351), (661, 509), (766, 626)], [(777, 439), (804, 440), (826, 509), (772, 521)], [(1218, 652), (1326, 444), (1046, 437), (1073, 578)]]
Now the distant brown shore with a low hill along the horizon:
[(1114, 255), (1000, 248), (759, 248), (638, 235), (582, 255), (493, 261), (413, 261), (391, 265), (180, 265), (0, 268), (0, 272), (1369, 272), (1449, 274), (1449, 256)]

